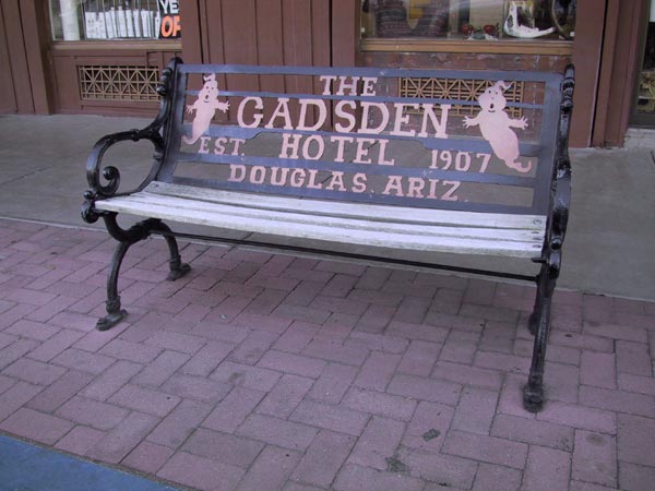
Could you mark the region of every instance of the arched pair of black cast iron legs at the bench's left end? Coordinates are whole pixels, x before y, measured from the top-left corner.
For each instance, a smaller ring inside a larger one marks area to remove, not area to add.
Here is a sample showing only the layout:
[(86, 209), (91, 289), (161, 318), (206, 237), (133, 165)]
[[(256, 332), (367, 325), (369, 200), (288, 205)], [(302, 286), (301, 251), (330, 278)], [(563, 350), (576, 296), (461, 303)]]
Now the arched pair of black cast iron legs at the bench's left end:
[[(128, 249), (130, 249), (130, 246), (146, 239), (153, 231), (170, 233), (170, 228), (156, 218), (148, 218), (140, 221), (128, 230), (120, 228), (116, 221), (115, 214), (105, 216), (104, 218), (109, 233), (118, 240), (119, 243), (111, 256), (111, 266), (109, 276), (107, 277), (107, 315), (98, 320), (96, 324), (98, 331), (107, 331), (114, 327), (128, 315), (128, 311), (121, 309), (120, 304), (120, 296), (118, 295), (118, 274), (120, 272), (122, 260), (126, 256)], [(166, 240), (168, 252), (170, 254), (170, 259), (168, 260), (170, 272), (168, 273), (167, 279), (174, 282), (189, 273), (191, 267), (188, 264), (182, 263), (175, 237), (171, 235), (164, 235), (164, 239)]]

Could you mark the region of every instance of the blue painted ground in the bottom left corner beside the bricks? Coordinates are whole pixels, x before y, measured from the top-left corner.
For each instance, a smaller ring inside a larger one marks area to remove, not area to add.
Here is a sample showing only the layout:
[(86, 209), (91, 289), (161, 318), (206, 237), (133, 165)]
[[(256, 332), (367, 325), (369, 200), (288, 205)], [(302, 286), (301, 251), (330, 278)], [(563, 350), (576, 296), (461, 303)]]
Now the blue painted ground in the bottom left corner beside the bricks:
[(0, 435), (2, 491), (175, 491), (177, 488)]

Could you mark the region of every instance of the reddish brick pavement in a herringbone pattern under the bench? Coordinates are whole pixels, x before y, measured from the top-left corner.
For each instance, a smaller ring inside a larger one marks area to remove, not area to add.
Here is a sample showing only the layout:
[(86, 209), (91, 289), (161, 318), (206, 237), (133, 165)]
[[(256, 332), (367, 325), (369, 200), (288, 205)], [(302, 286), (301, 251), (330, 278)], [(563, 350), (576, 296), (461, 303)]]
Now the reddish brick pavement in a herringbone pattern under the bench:
[[(0, 431), (201, 490), (646, 491), (655, 304), (0, 219)], [(565, 264), (564, 264), (565, 267)]]

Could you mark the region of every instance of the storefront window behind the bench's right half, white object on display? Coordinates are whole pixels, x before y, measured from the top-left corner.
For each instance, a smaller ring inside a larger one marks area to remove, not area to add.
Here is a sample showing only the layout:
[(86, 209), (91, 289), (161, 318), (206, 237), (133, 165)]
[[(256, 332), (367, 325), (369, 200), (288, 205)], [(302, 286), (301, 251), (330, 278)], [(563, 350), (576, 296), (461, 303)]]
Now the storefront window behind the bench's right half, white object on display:
[(362, 0), (365, 38), (572, 39), (576, 0)]

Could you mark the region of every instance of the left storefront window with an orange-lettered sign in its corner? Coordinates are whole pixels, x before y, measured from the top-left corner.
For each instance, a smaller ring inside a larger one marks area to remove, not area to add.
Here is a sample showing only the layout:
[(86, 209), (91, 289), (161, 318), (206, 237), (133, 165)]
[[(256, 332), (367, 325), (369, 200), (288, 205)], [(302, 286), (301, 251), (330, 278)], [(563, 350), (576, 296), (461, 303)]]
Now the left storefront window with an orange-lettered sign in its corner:
[(179, 0), (50, 0), (55, 40), (176, 39)]

